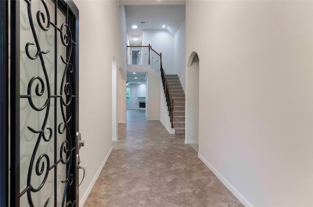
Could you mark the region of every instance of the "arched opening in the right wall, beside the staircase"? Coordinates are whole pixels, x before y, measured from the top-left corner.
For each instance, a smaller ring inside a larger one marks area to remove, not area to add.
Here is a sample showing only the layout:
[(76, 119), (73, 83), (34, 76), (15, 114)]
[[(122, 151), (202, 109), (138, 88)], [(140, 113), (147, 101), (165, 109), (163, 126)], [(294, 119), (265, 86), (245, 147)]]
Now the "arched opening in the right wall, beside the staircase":
[[(199, 56), (193, 52), (186, 70), (186, 136), (185, 143), (198, 151), (199, 143)], [(195, 144), (195, 145), (193, 145)]]

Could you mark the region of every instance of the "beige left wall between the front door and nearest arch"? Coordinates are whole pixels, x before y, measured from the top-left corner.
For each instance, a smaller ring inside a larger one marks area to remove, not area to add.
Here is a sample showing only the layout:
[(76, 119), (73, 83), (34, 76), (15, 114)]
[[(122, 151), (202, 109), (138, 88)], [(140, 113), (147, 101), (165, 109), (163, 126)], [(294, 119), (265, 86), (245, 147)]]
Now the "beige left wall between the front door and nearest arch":
[[(112, 147), (112, 58), (121, 56), (121, 7), (116, 1), (80, 1), (79, 9), (79, 130), (85, 146), (80, 157), (87, 174), (80, 186), (80, 205)], [(118, 35), (117, 35), (118, 34)], [(82, 175), (82, 173), (81, 173)]]

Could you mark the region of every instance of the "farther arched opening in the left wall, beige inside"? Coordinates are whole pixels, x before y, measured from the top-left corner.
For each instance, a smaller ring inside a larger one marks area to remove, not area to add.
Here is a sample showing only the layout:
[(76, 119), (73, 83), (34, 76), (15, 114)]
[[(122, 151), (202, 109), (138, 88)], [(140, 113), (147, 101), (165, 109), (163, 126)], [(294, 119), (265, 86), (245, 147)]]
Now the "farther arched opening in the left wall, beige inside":
[(126, 123), (126, 75), (123, 68), (117, 73), (117, 123)]

